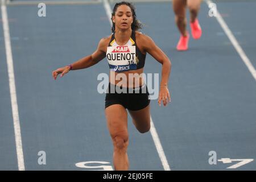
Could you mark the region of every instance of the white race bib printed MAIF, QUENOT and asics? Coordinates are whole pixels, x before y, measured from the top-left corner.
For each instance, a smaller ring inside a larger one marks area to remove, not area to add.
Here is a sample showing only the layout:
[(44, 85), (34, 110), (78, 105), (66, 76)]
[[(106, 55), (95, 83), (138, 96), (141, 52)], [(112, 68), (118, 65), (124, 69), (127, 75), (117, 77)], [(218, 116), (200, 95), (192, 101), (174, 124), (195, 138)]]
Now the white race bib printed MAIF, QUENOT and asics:
[(137, 69), (135, 46), (108, 47), (106, 57), (112, 71), (123, 72)]

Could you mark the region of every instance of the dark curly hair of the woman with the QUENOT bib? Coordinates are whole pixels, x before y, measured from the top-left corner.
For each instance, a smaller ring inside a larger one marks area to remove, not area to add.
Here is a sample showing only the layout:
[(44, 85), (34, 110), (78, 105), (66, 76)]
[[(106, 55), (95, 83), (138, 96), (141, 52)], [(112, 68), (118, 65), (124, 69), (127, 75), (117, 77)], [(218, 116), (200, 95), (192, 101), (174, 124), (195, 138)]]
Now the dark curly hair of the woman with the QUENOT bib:
[[(121, 6), (121, 5), (129, 6), (130, 9), (131, 9), (131, 13), (133, 14), (133, 23), (131, 23), (131, 29), (134, 30), (134, 31), (141, 29), (143, 25), (136, 17), (135, 6), (130, 2), (122, 1), (122, 2), (119, 2), (119, 3), (115, 3), (113, 13), (112, 13), (112, 17), (115, 15), (115, 12), (117, 11), (118, 7)], [(115, 32), (115, 23), (113, 22), (112, 17), (111, 17), (112, 24), (113, 24), (112, 32)]]

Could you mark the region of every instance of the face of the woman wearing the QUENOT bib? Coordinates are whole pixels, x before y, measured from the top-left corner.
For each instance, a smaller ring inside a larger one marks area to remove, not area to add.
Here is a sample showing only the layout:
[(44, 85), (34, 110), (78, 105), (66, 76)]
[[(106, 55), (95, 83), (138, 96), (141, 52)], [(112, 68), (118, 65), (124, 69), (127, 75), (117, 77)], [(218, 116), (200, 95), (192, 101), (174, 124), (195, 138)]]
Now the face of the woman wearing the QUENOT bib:
[(115, 23), (115, 30), (117, 28), (127, 30), (131, 27), (131, 23), (133, 23), (133, 14), (131, 13), (130, 7), (127, 5), (118, 6), (112, 18)]

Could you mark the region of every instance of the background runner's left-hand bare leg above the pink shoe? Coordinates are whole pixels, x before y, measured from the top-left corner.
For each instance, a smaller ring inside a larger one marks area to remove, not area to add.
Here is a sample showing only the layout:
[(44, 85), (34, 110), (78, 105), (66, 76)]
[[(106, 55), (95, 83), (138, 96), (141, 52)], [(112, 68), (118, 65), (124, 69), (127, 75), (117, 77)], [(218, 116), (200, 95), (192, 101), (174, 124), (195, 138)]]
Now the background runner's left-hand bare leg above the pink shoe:
[(173, 0), (172, 7), (175, 13), (175, 22), (177, 27), (179, 28), (180, 34), (183, 36), (187, 36), (186, 26), (186, 7), (187, 0)]

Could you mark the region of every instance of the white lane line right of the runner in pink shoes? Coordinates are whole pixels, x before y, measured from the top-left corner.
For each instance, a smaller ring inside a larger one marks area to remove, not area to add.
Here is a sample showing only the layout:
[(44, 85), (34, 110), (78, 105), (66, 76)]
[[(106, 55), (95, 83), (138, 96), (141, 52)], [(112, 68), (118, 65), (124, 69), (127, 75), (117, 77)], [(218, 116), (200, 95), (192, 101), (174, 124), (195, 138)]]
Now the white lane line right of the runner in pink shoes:
[[(210, 3), (213, 3), (210, 0), (205, 0), (205, 2), (208, 4), (208, 6), (210, 5)], [(251, 75), (253, 75), (254, 80), (256, 81), (256, 70), (253, 67), (253, 64), (251, 64), (251, 61), (249, 60), (249, 58), (246, 56), (245, 52), (243, 51), (242, 47), (240, 46), (240, 44), (237, 42), (237, 39), (235, 38), (235, 36), (233, 35), (232, 31), (229, 29), (228, 25), (225, 23), (224, 19), (222, 18), (222, 16), (220, 15), (220, 13), (218, 13), (218, 10), (216, 9), (216, 19), (218, 20), (218, 23), (220, 23), (220, 26), (222, 27), (222, 29), (224, 30), (224, 32), (226, 33), (226, 35), (228, 36), (230, 42), (233, 44), (234, 48), (236, 49), (237, 53), (240, 55), (243, 63), (245, 63), (246, 67), (249, 69)]]

